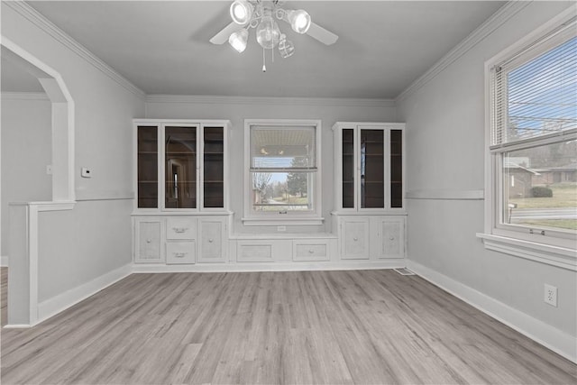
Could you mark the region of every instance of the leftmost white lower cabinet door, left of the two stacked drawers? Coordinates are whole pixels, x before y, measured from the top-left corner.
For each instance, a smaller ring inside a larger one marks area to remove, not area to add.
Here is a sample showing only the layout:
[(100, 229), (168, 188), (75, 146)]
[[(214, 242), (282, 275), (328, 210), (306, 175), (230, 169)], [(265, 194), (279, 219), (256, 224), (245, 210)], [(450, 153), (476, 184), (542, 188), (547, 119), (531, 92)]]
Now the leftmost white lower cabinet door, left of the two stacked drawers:
[(134, 262), (164, 262), (162, 253), (162, 219), (135, 218)]

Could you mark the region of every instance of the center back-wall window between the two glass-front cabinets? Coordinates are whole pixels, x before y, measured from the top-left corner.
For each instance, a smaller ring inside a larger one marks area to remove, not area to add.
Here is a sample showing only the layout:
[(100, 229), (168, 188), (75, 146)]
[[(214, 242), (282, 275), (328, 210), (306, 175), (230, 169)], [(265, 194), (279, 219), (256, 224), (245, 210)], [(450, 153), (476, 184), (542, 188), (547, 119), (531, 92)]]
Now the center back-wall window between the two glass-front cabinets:
[(245, 222), (319, 216), (319, 138), (318, 121), (245, 121)]

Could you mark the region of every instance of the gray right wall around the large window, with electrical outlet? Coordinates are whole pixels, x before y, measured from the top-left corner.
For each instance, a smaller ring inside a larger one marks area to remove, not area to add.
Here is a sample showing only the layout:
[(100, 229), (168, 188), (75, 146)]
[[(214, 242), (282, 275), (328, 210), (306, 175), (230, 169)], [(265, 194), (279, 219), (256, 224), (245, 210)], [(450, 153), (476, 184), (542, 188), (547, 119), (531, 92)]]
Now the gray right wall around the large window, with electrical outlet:
[[(431, 197), (484, 188), (484, 63), (570, 3), (533, 2), (424, 87), (398, 101), (407, 123), (408, 191)], [(423, 192), (425, 191), (425, 192)], [(409, 199), (408, 258), (577, 335), (576, 274), (484, 249), (482, 200)], [(544, 303), (544, 283), (559, 288), (559, 306)]]

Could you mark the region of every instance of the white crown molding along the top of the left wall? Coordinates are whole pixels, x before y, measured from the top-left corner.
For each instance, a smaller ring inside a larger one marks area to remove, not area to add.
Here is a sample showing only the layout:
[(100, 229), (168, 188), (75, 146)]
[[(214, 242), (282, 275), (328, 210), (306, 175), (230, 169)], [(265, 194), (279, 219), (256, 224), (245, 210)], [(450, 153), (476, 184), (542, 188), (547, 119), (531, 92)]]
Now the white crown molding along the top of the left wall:
[(46, 17), (32, 8), (31, 5), (26, 4), (22, 0), (3, 1), (2, 4), (14, 9), (14, 11), (16, 11), (18, 14), (22, 14), (23, 17), (40, 28), (43, 32), (48, 33), (54, 40), (59, 41), (66, 48), (76, 53), (80, 58), (86, 60), (93, 67), (105, 74), (105, 76), (113, 79), (120, 86), (132, 92), (135, 96), (138, 96), (142, 99), (146, 96), (142, 89), (134, 86), (133, 83), (131, 83), (128, 79), (124, 78), (114, 69), (112, 69), (103, 60), (97, 58), (94, 53), (90, 52), (82, 44), (70, 37), (68, 33), (60, 30), (59, 27), (54, 25), (54, 23), (51, 23)]

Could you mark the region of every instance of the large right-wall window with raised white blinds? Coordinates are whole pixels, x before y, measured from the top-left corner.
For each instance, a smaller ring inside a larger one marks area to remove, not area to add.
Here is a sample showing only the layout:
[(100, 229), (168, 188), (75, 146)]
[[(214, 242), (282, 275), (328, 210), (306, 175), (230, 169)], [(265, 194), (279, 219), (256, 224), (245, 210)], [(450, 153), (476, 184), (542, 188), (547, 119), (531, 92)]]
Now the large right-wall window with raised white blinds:
[(577, 239), (575, 16), (488, 65), (490, 234), (572, 250)]

